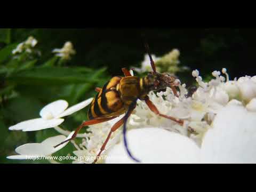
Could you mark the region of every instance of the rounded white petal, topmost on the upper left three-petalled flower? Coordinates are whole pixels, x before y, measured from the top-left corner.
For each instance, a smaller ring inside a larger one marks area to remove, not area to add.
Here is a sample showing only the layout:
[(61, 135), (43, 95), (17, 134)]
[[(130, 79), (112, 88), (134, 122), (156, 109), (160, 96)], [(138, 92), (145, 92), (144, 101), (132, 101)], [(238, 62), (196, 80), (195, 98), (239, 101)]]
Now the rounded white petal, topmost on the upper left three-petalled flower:
[(46, 105), (41, 111), (40, 116), (46, 119), (54, 118), (61, 114), (68, 107), (68, 102), (65, 100), (57, 100)]

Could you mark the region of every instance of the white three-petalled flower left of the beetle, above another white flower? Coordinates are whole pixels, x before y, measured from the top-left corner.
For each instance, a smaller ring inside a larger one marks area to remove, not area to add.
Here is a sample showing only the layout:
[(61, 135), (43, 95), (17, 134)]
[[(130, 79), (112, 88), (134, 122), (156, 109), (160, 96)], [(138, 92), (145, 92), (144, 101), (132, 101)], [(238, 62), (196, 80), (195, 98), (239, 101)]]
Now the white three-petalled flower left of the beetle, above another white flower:
[(37, 131), (60, 125), (65, 117), (83, 109), (91, 103), (93, 98), (80, 102), (72, 107), (68, 107), (65, 100), (57, 100), (46, 105), (39, 113), (41, 118), (30, 119), (9, 127), (9, 130)]

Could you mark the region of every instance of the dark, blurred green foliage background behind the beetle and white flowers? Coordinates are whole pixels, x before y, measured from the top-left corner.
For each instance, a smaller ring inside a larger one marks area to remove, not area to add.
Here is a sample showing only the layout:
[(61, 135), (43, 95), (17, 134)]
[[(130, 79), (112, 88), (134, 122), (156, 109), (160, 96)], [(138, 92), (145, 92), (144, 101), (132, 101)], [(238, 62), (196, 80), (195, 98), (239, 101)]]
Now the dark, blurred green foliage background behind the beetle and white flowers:
[[(8, 127), (38, 118), (42, 107), (54, 100), (65, 99), (71, 106), (93, 97), (94, 87), (102, 86), (111, 76), (123, 75), (122, 67), (141, 68), (146, 53), (142, 34), (156, 57), (179, 50), (179, 67), (188, 68), (175, 71), (175, 75), (189, 86), (195, 83), (194, 69), (206, 79), (223, 67), (231, 79), (254, 76), (255, 32), (224, 28), (0, 29), (0, 163), (47, 163), (6, 156), (15, 154), (14, 149), (24, 143), (42, 142), (58, 132), (9, 131)], [(19, 52), (17, 46), (29, 36), (37, 40), (36, 45)], [(76, 52), (68, 60), (52, 52), (65, 42), (71, 42)], [(68, 116), (62, 128), (74, 130), (87, 119), (86, 113), (87, 108)], [(67, 154), (71, 147), (58, 153)]]

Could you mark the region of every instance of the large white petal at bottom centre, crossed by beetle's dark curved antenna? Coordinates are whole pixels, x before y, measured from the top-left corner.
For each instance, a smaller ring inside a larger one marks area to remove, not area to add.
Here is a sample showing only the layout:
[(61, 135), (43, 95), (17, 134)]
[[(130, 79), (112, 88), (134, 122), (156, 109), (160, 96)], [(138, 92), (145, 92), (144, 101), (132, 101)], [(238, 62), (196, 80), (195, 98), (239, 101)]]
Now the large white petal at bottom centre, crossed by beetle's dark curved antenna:
[[(178, 133), (158, 128), (133, 129), (127, 132), (129, 149), (141, 163), (198, 163), (196, 143)], [(123, 142), (108, 153), (106, 163), (134, 163)]]

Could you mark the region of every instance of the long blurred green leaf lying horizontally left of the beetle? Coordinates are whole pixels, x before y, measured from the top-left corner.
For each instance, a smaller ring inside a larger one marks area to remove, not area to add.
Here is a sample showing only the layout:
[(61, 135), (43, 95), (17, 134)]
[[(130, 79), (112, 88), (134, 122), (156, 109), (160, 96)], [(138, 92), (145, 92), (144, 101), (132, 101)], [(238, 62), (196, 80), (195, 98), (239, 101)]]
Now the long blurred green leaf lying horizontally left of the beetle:
[(30, 85), (63, 85), (79, 83), (97, 83), (99, 78), (94, 78), (102, 74), (106, 68), (96, 70), (92, 73), (79, 73), (75, 68), (63, 67), (38, 67), (19, 73), (13, 73), (7, 81), (17, 82), (19, 84)]

